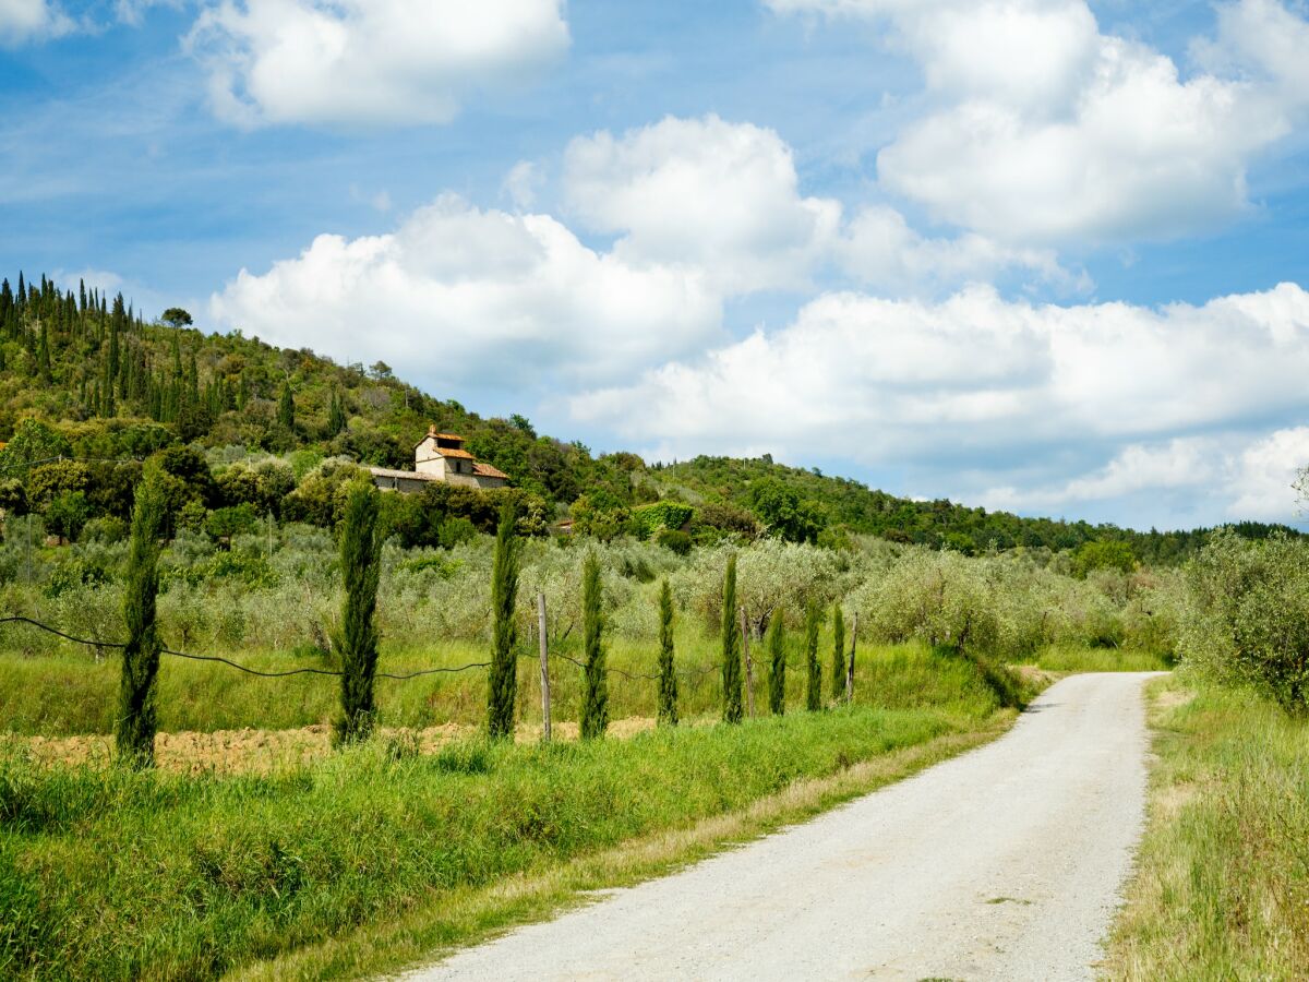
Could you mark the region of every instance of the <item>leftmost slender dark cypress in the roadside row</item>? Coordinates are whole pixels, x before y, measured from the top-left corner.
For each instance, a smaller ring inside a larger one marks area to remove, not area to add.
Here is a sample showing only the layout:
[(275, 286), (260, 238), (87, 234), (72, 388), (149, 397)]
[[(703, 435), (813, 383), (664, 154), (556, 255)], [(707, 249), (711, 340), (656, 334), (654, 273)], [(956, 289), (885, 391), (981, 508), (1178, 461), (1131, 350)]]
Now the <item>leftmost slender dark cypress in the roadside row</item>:
[(160, 585), (158, 541), (162, 529), (164, 494), (158, 483), (148, 478), (136, 492), (132, 508), (132, 538), (123, 594), (127, 647), (123, 648), (115, 725), (118, 755), (134, 767), (151, 767), (154, 763), (154, 680), (164, 647), (154, 601)]

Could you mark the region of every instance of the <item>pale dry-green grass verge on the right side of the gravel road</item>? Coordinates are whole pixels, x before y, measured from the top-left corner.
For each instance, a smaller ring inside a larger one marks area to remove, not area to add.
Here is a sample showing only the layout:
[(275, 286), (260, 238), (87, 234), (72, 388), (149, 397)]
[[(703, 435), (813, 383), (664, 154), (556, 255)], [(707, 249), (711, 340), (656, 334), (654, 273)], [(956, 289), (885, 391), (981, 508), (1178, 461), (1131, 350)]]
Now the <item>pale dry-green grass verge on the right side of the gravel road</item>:
[(1309, 725), (1223, 689), (1151, 686), (1149, 824), (1115, 979), (1291, 979), (1309, 966)]

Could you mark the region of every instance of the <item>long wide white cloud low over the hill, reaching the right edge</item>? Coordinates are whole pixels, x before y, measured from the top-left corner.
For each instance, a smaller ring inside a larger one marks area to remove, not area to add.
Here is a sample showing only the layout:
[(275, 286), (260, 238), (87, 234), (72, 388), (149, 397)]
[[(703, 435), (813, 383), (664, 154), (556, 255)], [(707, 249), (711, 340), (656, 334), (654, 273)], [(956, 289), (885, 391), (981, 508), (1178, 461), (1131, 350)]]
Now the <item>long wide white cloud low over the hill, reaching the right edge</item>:
[[(1158, 310), (1038, 306), (986, 287), (942, 302), (836, 293), (776, 333), (581, 394), (572, 411), (666, 456), (768, 445), (788, 460), (969, 467), (977, 487), (995, 488), (1033, 454), (1109, 448), (1111, 458), (1177, 433), (1304, 414), (1306, 373), (1309, 292), (1295, 284)], [(1127, 454), (1045, 500), (1127, 494), (1147, 477), (1168, 483), (1194, 470), (1194, 448), (1177, 444), (1151, 465)]]

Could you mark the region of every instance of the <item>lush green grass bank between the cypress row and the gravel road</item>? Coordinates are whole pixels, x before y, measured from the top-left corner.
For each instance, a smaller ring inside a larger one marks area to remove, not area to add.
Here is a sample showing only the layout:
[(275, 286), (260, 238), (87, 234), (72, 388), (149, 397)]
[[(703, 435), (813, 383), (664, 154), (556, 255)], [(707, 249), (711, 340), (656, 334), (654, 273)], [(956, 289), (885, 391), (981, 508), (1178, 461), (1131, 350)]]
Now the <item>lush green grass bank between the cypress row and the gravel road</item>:
[(39, 767), (10, 752), (0, 974), (215, 977), (1012, 718), (977, 680), (942, 678), (952, 698), (935, 707), (436, 755), (376, 741), (272, 775)]

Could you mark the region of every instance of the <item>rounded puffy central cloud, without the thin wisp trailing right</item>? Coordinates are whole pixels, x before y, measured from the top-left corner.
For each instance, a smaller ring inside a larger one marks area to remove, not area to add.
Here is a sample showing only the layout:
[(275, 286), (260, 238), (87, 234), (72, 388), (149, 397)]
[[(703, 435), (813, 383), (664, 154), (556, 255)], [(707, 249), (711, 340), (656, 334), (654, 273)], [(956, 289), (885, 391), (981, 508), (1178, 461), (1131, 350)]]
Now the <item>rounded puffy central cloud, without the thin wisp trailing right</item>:
[(728, 292), (804, 285), (840, 224), (839, 203), (800, 195), (776, 132), (716, 115), (577, 137), (563, 187), (624, 261), (703, 268)]

